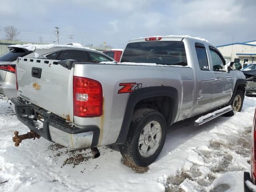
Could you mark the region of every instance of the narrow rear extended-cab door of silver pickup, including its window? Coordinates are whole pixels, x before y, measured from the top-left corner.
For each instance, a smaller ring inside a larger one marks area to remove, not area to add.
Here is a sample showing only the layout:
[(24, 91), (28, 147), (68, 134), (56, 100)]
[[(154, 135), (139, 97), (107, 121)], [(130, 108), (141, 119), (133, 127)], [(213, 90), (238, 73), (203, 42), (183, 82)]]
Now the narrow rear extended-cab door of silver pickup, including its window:
[(198, 79), (197, 101), (193, 116), (207, 112), (212, 104), (214, 90), (214, 74), (209, 65), (206, 47), (195, 43), (195, 63)]

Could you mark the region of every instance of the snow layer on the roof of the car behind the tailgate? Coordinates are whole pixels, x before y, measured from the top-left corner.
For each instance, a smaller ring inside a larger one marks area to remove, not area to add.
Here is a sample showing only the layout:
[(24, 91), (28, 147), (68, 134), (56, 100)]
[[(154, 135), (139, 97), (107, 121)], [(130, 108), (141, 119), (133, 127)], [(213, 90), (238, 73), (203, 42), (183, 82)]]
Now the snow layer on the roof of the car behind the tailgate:
[(97, 51), (95, 49), (84, 47), (82, 45), (59, 45), (59, 44), (36, 45), (36, 44), (23, 44), (23, 45), (10, 45), (8, 47), (23, 48), (23, 49), (26, 49), (26, 50), (29, 50), (29, 51), (35, 51), (36, 49), (50, 49), (50, 48), (54, 48), (54, 47), (79, 48), (79, 49)]

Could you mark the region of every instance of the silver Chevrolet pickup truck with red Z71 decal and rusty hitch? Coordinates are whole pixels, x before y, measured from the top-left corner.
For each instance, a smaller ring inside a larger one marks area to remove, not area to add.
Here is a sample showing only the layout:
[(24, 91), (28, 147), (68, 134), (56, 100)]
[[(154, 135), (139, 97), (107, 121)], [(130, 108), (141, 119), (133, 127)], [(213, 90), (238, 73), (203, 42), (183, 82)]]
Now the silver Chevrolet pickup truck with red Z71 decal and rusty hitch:
[(31, 130), (15, 132), (68, 148), (119, 145), (124, 160), (148, 166), (173, 123), (207, 114), (203, 124), (242, 109), (246, 80), (226, 66), (206, 40), (155, 36), (128, 42), (121, 62), (18, 58), (17, 118)]

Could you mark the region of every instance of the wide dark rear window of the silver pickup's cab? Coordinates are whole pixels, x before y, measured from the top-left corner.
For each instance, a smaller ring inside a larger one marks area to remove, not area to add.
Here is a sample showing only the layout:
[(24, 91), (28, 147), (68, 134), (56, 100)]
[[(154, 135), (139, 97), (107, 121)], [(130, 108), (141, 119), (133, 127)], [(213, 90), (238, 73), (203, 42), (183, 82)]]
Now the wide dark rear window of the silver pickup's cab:
[(150, 41), (127, 44), (121, 62), (187, 66), (182, 41)]

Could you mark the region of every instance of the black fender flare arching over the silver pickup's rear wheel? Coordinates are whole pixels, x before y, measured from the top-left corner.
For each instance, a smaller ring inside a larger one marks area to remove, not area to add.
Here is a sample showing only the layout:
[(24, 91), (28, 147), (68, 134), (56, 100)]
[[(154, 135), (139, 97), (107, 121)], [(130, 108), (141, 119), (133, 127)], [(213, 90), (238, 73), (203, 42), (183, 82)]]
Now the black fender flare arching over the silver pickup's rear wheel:
[(178, 91), (176, 90), (176, 88), (169, 86), (152, 86), (134, 90), (130, 93), (128, 97), (122, 127), (120, 129), (118, 138), (114, 144), (124, 144), (124, 142), (126, 141), (135, 105), (142, 99), (155, 96), (168, 96), (172, 99), (173, 109), (172, 112), (170, 112), (166, 124), (168, 126), (174, 123), (178, 112)]

